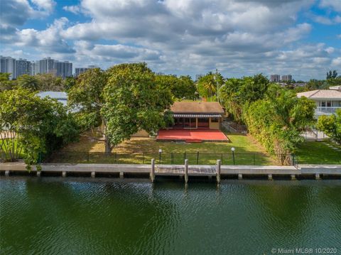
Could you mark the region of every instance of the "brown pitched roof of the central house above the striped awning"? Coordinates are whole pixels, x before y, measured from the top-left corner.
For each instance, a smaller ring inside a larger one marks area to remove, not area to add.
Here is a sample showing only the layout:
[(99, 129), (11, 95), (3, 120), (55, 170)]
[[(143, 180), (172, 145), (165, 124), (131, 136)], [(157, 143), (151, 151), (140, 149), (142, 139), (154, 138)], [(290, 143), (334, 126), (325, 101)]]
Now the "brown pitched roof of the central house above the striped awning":
[(224, 109), (218, 102), (174, 102), (171, 111), (178, 114), (224, 114)]

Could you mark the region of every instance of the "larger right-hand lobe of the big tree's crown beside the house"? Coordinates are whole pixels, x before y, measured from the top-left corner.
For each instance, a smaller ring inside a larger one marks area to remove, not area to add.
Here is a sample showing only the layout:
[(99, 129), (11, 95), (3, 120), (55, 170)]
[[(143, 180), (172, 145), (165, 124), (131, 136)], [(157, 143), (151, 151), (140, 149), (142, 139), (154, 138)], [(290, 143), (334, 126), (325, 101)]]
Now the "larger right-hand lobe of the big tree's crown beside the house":
[(156, 83), (146, 63), (115, 65), (108, 77), (101, 114), (112, 147), (141, 129), (151, 133), (166, 126), (163, 112), (172, 103), (171, 92)]

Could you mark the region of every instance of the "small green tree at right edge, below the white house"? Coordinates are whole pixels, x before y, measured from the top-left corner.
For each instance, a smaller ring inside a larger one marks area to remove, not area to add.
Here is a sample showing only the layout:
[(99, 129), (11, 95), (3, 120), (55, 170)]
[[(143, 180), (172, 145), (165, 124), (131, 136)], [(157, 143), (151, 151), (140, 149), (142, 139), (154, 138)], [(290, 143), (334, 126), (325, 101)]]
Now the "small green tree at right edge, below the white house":
[(331, 139), (341, 143), (341, 109), (338, 109), (336, 114), (320, 116), (317, 127)]

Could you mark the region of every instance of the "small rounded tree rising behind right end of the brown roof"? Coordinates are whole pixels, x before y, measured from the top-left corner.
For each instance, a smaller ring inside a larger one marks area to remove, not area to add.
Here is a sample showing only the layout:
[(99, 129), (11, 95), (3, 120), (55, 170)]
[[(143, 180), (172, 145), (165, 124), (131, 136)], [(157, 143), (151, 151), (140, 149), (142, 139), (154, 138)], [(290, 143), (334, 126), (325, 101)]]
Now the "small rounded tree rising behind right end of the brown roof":
[(224, 85), (224, 78), (220, 73), (216, 75), (208, 72), (197, 81), (197, 92), (208, 101), (213, 101), (217, 98), (217, 87), (222, 87), (222, 85)]

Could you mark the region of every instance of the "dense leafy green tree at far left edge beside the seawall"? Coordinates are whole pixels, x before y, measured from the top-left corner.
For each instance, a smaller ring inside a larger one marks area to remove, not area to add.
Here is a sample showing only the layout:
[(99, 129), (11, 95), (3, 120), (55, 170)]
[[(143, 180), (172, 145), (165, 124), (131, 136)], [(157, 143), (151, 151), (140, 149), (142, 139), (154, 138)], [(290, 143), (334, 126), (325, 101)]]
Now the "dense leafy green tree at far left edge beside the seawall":
[(16, 161), (23, 151), (26, 163), (35, 164), (40, 153), (51, 153), (77, 139), (75, 120), (55, 99), (41, 99), (19, 87), (1, 92), (0, 102), (0, 149), (6, 160)]

